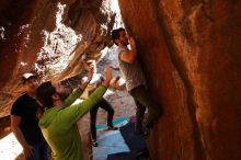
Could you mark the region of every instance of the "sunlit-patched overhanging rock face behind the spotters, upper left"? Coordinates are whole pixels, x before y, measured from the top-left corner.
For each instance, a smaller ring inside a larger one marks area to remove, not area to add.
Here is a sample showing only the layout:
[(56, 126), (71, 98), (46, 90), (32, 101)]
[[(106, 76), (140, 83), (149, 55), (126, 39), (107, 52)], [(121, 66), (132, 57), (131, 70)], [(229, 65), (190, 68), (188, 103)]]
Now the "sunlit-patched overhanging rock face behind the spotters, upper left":
[[(97, 59), (115, 22), (110, 0), (0, 2), (0, 117), (21, 93), (20, 77), (42, 79), (80, 73), (81, 60)], [(84, 55), (84, 56), (83, 56)]]

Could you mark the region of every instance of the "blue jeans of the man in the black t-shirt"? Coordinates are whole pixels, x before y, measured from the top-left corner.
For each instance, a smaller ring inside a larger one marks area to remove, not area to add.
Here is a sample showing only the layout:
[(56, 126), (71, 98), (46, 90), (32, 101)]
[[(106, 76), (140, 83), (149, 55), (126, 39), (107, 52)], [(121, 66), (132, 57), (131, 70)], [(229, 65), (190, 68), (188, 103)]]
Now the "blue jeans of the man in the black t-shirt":
[(48, 145), (44, 140), (41, 144), (32, 145), (34, 147), (34, 156), (26, 160), (48, 160)]

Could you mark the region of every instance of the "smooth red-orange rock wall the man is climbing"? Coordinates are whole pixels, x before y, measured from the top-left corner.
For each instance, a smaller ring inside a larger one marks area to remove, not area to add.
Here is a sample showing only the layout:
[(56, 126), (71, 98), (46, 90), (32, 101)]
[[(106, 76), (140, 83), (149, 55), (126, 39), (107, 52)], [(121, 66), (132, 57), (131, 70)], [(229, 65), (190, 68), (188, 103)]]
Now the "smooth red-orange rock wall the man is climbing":
[(241, 159), (241, 1), (119, 0), (163, 106), (153, 160)]

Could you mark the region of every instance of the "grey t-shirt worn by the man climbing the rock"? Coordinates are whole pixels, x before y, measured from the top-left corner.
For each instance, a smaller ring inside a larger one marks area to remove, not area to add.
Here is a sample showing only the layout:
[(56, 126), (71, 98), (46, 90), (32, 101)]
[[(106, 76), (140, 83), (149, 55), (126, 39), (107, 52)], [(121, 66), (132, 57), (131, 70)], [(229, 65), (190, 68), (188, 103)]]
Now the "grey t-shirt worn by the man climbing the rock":
[(144, 77), (139, 61), (136, 59), (133, 64), (128, 64), (120, 59), (120, 55), (123, 53), (129, 52), (128, 48), (118, 47), (116, 52), (118, 55), (118, 65), (120, 72), (126, 80), (127, 91), (130, 91), (141, 84), (145, 85), (146, 79)]

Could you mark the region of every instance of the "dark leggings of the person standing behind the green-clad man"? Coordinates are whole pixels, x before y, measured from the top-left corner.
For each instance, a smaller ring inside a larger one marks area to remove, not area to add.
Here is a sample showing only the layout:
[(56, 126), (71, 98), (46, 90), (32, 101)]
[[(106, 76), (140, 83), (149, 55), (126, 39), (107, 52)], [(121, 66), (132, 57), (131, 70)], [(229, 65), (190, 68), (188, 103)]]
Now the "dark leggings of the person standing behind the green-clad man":
[(90, 111), (90, 118), (91, 118), (91, 135), (92, 139), (96, 139), (96, 114), (99, 107), (105, 110), (107, 112), (107, 126), (112, 127), (113, 126), (113, 116), (114, 116), (114, 110), (112, 105), (105, 100), (101, 99)]

